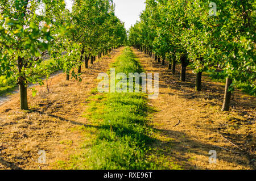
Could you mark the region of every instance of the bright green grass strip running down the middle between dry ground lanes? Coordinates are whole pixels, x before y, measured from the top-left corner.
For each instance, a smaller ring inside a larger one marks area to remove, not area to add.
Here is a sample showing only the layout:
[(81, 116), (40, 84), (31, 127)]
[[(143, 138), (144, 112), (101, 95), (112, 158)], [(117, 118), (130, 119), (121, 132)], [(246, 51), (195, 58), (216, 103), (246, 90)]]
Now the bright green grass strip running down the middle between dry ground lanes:
[[(116, 73), (141, 73), (130, 48), (113, 64)], [(68, 163), (58, 162), (61, 169), (166, 169), (168, 162), (163, 155), (153, 154), (154, 130), (148, 125), (147, 94), (105, 93), (90, 97), (89, 108), (85, 112), (91, 127), (84, 127), (96, 137), (83, 145), (82, 153), (73, 155)], [(93, 127), (93, 128), (92, 128)], [(97, 131), (92, 131), (95, 129)], [(160, 159), (159, 159), (160, 158)], [(175, 164), (170, 163), (176, 169)]]

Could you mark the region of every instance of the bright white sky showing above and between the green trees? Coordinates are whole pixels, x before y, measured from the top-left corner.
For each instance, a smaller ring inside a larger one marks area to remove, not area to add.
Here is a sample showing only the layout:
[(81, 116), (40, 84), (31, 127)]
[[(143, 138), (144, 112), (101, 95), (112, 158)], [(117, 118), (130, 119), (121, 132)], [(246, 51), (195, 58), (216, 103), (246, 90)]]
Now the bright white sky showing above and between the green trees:
[[(125, 22), (126, 30), (139, 20), (139, 15), (146, 8), (145, 0), (113, 0), (115, 15)], [(67, 9), (72, 10), (72, 0), (65, 0)]]

